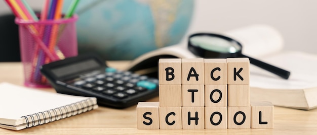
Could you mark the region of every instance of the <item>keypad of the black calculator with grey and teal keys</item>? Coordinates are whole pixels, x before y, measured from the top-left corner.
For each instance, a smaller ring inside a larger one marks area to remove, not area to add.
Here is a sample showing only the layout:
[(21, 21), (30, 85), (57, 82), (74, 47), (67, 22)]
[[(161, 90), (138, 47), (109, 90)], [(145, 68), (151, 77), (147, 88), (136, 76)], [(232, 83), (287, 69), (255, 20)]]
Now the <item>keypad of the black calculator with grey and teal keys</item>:
[(117, 71), (111, 67), (107, 67), (105, 73), (70, 82), (69, 85), (117, 99), (125, 99), (154, 90), (159, 83), (157, 79), (150, 79), (147, 76), (131, 72)]

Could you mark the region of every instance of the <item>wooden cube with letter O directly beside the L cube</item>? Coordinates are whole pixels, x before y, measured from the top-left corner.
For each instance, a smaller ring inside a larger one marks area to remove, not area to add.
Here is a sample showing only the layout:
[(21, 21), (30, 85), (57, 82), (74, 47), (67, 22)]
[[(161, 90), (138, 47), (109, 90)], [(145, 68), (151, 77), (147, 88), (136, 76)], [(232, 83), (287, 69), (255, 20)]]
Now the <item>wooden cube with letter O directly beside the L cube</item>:
[(251, 107), (228, 106), (228, 128), (251, 128)]

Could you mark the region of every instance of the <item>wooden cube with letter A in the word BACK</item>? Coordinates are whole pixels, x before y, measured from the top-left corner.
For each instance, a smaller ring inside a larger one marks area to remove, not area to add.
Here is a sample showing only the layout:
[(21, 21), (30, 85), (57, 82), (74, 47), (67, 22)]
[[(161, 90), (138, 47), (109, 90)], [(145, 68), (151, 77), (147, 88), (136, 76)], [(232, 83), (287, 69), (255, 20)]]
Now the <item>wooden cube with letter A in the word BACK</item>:
[(204, 59), (182, 59), (182, 84), (204, 84)]

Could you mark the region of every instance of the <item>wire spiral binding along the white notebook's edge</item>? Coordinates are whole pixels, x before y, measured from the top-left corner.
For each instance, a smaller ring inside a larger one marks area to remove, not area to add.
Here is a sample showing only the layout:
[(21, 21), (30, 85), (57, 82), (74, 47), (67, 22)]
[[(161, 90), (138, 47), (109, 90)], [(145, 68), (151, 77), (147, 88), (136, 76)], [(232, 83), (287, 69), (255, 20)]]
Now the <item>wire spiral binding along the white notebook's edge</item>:
[(90, 111), (94, 109), (94, 106), (96, 104), (97, 103), (93, 98), (89, 98), (87, 100), (72, 103), (66, 106), (61, 106), (55, 109), (38, 112), (22, 117), (24, 117), (26, 121), (25, 128), (28, 128)]

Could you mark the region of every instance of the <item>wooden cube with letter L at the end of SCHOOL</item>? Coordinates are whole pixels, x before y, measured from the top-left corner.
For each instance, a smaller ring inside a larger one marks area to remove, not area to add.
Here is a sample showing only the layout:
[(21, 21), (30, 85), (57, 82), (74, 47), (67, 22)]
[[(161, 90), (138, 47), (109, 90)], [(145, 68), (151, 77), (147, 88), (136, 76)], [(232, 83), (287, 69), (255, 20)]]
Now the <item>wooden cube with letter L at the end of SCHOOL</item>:
[(273, 128), (274, 106), (268, 101), (251, 102), (251, 128)]

